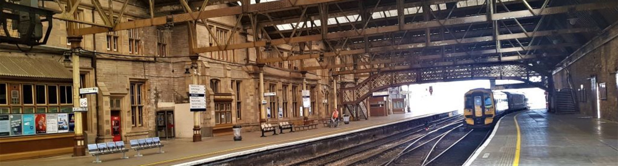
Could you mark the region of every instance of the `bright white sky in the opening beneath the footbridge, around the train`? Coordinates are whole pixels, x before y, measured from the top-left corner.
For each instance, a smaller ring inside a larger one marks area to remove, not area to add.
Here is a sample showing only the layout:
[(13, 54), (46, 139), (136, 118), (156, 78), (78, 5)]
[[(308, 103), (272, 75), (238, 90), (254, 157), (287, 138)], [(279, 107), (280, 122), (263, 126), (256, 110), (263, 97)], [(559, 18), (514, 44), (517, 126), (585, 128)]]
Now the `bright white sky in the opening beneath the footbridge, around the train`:
[[(507, 83), (521, 83), (516, 80), (496, 80), (496, 85)], [(429, 87), (433, 93), (430, 94)], [(410, 91), (410, 110), (415, 115), (430, 114), (433, 112), (446, 112), (458, 110), (463, 112), (464, 94), (470, 89), (489, 88), (489, 80), (453, 81), (444, 83), (425, 83), (402, 86), (404, 91)], [(504, 91), (526, 94), (531, 109), (543, 109), (545, 107), (545, 95), (543, 89), (507, 89)]]

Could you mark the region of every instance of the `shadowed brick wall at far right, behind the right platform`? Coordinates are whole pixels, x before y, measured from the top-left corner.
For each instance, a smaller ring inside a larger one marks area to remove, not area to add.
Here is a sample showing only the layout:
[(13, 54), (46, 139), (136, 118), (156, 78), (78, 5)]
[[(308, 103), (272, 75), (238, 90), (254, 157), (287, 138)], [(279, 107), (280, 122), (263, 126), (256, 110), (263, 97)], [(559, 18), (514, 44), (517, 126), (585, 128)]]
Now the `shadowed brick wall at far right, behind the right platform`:
[[(612, 27), (606, 29), (601, 33), (600, 38), (595, 38), (591, 43), (599, 41), (602, 44), (598, 44), (598, 47), (590, 49), (590, 52), (584, 54), (578, 58), (575, 56), (567, 58), (569, 62), (565, 62), (567, 68), (569, 68), (570, 74), (574, 83), (574, 90), (585, 89), (584, 96), (577, 96), (585, 98), (585, 102), (578, 102), (579, 110), (582, 114), (597, 116), (596, 110), (596, 98), (595, 92), (591, 89), (591, 80), (589, 78), (596, 77), (597, 83), (606, 83), (607, 87), (607, 99), (599, 101), (601, 118), (607, 120), (618, 121), (618, 92), (616, 83), (616, 71), (618, 70), (618, 38), (616, 38), (616, 31), (618, 27), (614, 24)], [(607, 40), (609, 39), (609, 40)], [(604, 40), (606, 42), (601, 42)], [(588, 50), (582, 49), (579, 51)], [(579, 52), (577, 51), (577, 52)], [(576, 52), (576, 53), (577, 53)], [(567, 82), (566, 70), (559, 70), (554, 72), (554, 81), (556, 81), (556, 88), (569, 88)]]

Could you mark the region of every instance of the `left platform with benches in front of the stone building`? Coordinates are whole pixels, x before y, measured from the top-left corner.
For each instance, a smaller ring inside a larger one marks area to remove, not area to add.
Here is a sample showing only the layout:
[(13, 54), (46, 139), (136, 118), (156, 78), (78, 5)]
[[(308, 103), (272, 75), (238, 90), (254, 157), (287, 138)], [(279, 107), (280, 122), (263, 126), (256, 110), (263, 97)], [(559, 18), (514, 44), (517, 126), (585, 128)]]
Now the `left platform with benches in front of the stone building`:
[[(341, 135), (342, 133), (350, 134), (362, 131), (365, 128), (389, 125), (391, 123), (414, 120), (446, 112), (436, 112), (432, 114), (413, 112), (407, 114), (393, 114), (386, 117), (371, 117), (369, 120), (353, 121), (348, 125), (341, 123), (337, 128), (323, 127), (322, 124), (318, 124), (318, 128), (313, 130), (297, 131), (294, 133), (284, 131), (284, 134), (279, 135), (272, 135), (272, 132), (266, 133), (267, 137), (265, 138), (260, 137), (260, 131), (243, 132), (242, 141), (234, 141), (231, 135), (203, 138), (202, 141), (198, 143), (193, 143), (192, 139), (162, 140), (163, 144), (166, 144), (163, 147), (165, 152), (162, 154), (157, 153), (156, 149), (151, 149), (142, 151), (142, 157), (133, 157), (133, 155), (136, 154), (135, 151), (129, 151), (127, 152), (129, 159), (120, 159), (122, 154), (109, 154), (101, 156), (102, 163), (92, 163), (93, 160), (95, 160), (93, 156), (71, 157), (70, 154), (67, 154), (38, 159), (0, 162), (0, 165), (176, 165), (212, 157), (225, 158), (234, 153), (248, 154), (258, 152), (260, 149), (276, 148), (276, 146), (282, 146), (284, 144), (302, 143), (302, 141), (307, 141), (308, 139), (328, 138), (329, 136)], [(279, 133), (279, 130), (277, 130), (277, 133)]]

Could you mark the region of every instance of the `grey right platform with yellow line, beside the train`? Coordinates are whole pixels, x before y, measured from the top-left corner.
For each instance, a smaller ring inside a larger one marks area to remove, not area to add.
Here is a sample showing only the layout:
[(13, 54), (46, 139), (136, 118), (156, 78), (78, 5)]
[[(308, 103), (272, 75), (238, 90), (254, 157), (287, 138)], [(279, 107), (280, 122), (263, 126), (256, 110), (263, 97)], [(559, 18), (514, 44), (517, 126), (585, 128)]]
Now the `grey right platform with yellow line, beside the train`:
[(616, 122), (526, 110), (492, 132), (465, 165), (618, 165)]

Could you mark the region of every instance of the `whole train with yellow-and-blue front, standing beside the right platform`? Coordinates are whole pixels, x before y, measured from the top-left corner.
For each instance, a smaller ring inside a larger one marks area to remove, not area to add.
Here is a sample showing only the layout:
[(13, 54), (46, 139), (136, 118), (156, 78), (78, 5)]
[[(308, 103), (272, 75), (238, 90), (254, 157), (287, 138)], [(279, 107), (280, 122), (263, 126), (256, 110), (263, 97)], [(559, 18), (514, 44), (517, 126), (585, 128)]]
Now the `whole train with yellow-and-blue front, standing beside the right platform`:
[(463, 123), (467, 128), (488, 128), (502, 115), (530, 108), (524, 94), (486, 88), (471, 89), (465, 93), (464, 102)]

